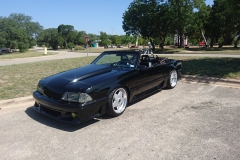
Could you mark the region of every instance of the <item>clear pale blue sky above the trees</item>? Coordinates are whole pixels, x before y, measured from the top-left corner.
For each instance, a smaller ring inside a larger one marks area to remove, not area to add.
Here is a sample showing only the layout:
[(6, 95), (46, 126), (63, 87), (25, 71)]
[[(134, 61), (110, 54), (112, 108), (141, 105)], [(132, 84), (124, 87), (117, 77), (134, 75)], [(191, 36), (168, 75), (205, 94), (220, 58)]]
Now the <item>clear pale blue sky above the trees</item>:
[[(0, 16), (22, 13), (47, 28), (61, 24), (72, 25), (75, 30), (99, 35), (124, 35), (122, 16), (133, 0), (0, 0)], [(213, 0), (206, 0), (212, 5)]]

